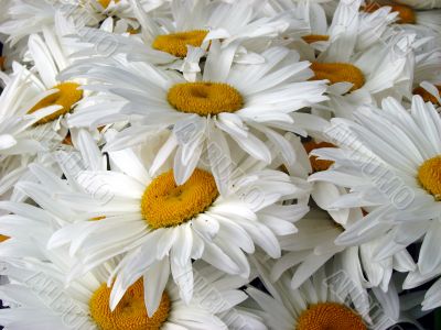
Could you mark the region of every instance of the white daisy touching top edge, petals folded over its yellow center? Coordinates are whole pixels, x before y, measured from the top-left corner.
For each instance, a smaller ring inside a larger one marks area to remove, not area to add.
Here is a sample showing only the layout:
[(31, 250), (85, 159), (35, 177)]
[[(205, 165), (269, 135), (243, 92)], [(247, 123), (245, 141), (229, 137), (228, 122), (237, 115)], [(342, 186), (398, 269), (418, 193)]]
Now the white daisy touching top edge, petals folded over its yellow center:
[(129, 61), (146, 61), (178, 69), (191, 81), (201, 72), (200, 61), (205, 58), (214, 40), (234, 55), (234, 62), (262, 63), (265, 59), (257, 53), (268, 48), (278, 36), (299, 34), (304, 23), (288, 13), (261, 14), (259, 6), (256, 0), (229, 3), (173, 0), (170, 14), (149, 14), (133, 3), (139, 29), (127, 29), (122, 24), (103, 29), (106, 21), (100, 30), (80, 29), (78, 40), (86, 40), (92, 46), (78, 55), (107, 57), (110, 50), (111, 55), (125, 54)]

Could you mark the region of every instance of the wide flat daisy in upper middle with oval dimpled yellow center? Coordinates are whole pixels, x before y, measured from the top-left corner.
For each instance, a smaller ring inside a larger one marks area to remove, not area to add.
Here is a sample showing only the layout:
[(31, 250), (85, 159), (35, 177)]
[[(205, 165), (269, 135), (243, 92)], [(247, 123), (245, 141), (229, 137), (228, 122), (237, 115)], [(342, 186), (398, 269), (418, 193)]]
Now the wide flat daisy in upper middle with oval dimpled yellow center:
[[(269, 48), (261, 54), (266, 62), (257, 65), (230, 67), (229, 55), (219, 50), (217, 42), (212, 42), (204, 74), (197, 81), (186, 81), (181, 75), (148, 63), (116, 59), (77, 65), (63, 76), (103, 81), (104, 85), (92, 88), (108, 90), (127, 100), (120, 113), (131, 114), (132, 127), (122, 131), (107, 150), (125, 148), (172, 127), (173, 134), (157, 162), (161, 165), (164, 157), (175, 152), (178, 184), (193, 173), (204, 147), (209, 151), (213, 136), (227, 158), (228, 143), (233, 141), (255, 158), (270, 163), (270, 151), (259, 139), (265, 134), (292, 163), (287, 142), (277, 130), (304, 134), (295, 125), (297, 114), (292, 112), (325, 100), (324, 81), (305, 81), (312, 76), (310, 63), (298, 62), (298, 54), (286, 48)], [(103, 120), (98, 110), (94, 116), (95, 121)], [(82, 125), (90, 125), (90, 119), (87, 117), (88, 121)], [(212, 170), (218, 180), (220, 174), (216, 168)], [(224, 176), (228, 179), (228, 172)]]

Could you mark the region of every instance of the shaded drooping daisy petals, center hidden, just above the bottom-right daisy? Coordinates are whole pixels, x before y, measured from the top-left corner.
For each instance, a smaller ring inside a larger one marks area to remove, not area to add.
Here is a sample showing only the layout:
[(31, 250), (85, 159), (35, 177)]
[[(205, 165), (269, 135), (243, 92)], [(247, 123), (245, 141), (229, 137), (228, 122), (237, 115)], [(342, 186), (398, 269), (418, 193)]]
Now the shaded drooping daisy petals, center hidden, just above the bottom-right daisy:
[[(346, 227), (362, 220), (361, 210), (352, 210)], [(312, 276), (319, 267), (332, 260), (342, 270), (351, 274), (358, 287), (379, 287), (386, 292), (392, 271), (408, 273), (416, 270), (412, 257), (406, 250), (396, 252), (385, 260), (375, 260), (374, 251), (384, 242), (379, 239), (363, 244), (342, 246), (335, 240), (344, 232), (338, 219), (320, 209), (313, 209), (303, 219), (295, 222), (298, 232), (280, 238), (280, 245), (287, 251), (277, 260), (271, 270), (271, 280), (279, 280), (288, 268), (292, 272), (291, 287), (298, 288)], [(362, 298), (359, 298), (362, 299)]]

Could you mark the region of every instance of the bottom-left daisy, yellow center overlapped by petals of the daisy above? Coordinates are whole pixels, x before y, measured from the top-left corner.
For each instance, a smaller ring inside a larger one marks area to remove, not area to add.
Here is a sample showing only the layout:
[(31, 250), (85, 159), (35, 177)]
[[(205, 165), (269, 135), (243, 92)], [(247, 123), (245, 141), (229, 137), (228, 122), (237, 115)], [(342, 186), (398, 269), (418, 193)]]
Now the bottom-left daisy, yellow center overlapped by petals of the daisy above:
[[(197, 283), (187, 304), (172, 280), (164, 278), (162, 293), (150, 278), (140, 278), (110, 310), (111, 287), (106, 279), (114, 263), (75, 278), (66, 287), (66, 266), (72, 262), (68, 254), (57, 251), (47, 256), (45, 261), (2, 263), (1, 274), (11, 280), (0, 287), (0, 298), (9, 307), (0, 310), (0, 322), (8, 329), (266, 329), (258, 316), (235, 308), (247, 299), (238, 289), (247, 280), (227, 278), (204, 263), (194, 265)], [(144, 296), (151, 295), (160, 297), (155, 312), (144, 305)], [(216, 304), (207, 304), (207, 299)]]

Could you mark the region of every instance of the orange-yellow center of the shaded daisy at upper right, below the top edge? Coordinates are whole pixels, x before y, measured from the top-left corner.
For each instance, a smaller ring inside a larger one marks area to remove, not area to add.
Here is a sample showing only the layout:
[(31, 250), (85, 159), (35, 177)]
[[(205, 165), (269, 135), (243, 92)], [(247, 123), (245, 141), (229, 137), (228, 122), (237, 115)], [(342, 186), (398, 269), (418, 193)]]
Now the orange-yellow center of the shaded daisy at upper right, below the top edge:
[(313, 62), (311, 69), (314, 72), (312, 80), (327, 79), (331, 84), (352, 82), (351, 91), (362, 88), (365, 85), (365, 76), (355, 65), (348, 63), (319, 63)]

